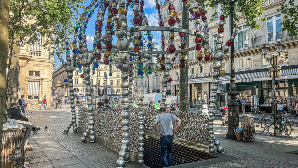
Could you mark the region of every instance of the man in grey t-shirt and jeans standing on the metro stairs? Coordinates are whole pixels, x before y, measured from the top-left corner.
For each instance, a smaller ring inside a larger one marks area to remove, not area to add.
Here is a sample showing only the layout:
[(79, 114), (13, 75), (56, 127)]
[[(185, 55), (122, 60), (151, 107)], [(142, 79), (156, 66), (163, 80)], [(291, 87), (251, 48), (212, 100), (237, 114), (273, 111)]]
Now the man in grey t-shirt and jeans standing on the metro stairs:
[[(177, 122), (175, 130), (173, 130), (173, 122)], [(160, 123), (160, 131), (158, 130), (157, 124)], [(162, 164), (164, 167), (171, 166), (172, 162), (172, 145), (173, 135), (177, 133), (181, 120), (174, 114), (165, 113), (164, 108), (159, 109), (159, 114), (156, 117), (154, 128), (156, 133), (160, 136), (159, 146), (162, 158)], [(167, 154), (167, 155), (166, 155)]]

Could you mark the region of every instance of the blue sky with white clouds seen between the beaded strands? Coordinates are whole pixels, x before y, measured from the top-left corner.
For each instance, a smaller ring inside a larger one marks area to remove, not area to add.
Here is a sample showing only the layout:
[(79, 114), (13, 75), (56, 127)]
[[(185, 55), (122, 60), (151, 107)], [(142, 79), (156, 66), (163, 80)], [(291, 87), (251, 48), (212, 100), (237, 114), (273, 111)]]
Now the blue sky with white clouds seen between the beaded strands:
[[(89, 5), (90, 2), (91, 2), (91, 0), (87, 0), (86, 3), (84, 4), (84, 6)], [(82, 13), (82, 12), (83, 12), (83, 9), (80, 10), (80, 13)], [(159, 26), (158, 25), (158, 13), (155, 8), (154, 0), (145, 0), (144, 12), (145, 12), (145, 15), (147, 16), (147, 20), (149, 21), (149, 26)], [(89, 51), (92, 50), (96, 15), (97, 15), (97, 10), (94, 11), (94, 14), (91, 16), (90, 21), (88, 22), (88, 25), (87, 25), (87, 29), (86, 29), (86, 35), (87, 35), (86, 38), (87, 38), (87, 45), (88, 45)], [(132, 27), (130, 20), (133, 18), (133, 16), (134, 16), (134, 14), (132, 13), (132, 9), (129, 8), (128, 12), (127, 12), (127, 17), (128, 17), (128, 25), (130, 27)], [(105, 19), (107, 19), (106, 15), (105, 15)], [(103, 32), (102, 32), (103, 35), (105, 34), (105, 25), (106, 25), (106, 21), (103, 22)], [(160, 50), (160, 42), (159, 42), (160, 41), (160, 32), (151, 31), (151, 34), (153, 34), (153, 36), (154, 36), (152, 41), (158, 42), (158, 45), (156, 46), (156, 48), (158, 48), (158, 50)], [(117, 37), (113, 36), (113, 38), (114, 38), (113, 44), (115, 45), (117, 42)], [(71, 52), (71, 54), (72, 54), (72, 52)], [(65, 55), (64, 55), (63, 59), (66, 60)], [(56, 62), (55, 66), (59, 66), (61, 64), (60, 60), (58, 59), (58, 57), (56, 55), (54, 56), (54, 61)]]

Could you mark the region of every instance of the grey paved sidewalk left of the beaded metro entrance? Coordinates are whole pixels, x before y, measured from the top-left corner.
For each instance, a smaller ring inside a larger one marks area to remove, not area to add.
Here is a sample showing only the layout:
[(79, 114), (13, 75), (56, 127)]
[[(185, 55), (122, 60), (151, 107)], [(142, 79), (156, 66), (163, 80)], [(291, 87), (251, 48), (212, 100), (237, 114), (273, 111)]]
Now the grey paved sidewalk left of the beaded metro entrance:
[[(71, 121), (69, 104), (63, 109), (26, 111), (29, 121), (40, 127), (32, 133), (29, 143), (32, 151), (26, 151), (25, 167), (32, 168), (114, 168), (118, 154), (100, 143), (79, 143), (80, 133), (63, 134), (67, 123)], [(44, 127), (48, 126), (45, 130)], [(28, 149), (27, 149), (28, 150)], [(136, 163), (125, 164), (136, 167)]]

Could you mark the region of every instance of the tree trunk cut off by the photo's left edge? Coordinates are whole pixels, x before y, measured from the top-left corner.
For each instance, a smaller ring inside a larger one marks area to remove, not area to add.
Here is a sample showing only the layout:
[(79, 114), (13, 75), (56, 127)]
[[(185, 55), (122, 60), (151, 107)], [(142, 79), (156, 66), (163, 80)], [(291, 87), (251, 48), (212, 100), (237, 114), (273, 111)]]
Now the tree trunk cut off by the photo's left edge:
[[(9, 0), (0, 1), (0, 123), (3, 123), (6, 103), (6, 67), (8, 56), (8, 24), (9, 24)], [(2, 129), (0, 129), (0, 149), (2, 144)], [(2, 156), (1, 156), (2, 158)]]

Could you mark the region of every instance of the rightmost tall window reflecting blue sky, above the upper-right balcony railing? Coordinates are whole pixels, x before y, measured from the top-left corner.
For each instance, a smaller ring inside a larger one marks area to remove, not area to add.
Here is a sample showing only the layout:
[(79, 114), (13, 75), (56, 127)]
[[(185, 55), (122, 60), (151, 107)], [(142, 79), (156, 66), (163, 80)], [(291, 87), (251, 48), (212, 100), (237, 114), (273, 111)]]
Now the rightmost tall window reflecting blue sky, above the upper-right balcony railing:
[(267, 42), (273, 43), (280, 41), (281, 36), (280, 14), (267, 18)]

